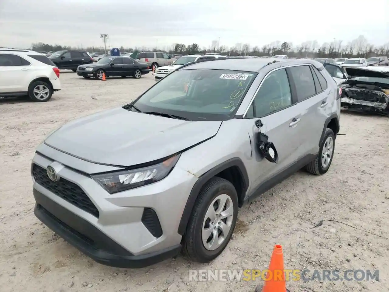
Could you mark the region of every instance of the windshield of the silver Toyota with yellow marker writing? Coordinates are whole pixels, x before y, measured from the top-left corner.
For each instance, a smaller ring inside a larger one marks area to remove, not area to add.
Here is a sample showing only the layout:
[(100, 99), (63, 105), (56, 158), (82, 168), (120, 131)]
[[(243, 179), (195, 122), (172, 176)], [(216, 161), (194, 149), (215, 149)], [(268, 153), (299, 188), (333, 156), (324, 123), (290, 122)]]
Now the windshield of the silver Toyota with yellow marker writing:
[(174, 114), (188, 120), (229, 120), (254, 80), (254, 72), (176, 70), (146, 91), (134, 105), (142, 112)]

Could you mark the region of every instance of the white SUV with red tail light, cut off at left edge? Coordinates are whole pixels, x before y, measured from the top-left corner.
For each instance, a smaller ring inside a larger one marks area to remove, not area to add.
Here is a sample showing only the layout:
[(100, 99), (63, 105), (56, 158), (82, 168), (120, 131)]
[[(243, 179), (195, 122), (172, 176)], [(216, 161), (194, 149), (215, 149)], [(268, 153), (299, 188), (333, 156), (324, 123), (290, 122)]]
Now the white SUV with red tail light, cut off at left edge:
[(45, 102), (58, 90), (60, 70), (45, 55), (0, 49), (0, 97), (28, 95), (32, 101)]

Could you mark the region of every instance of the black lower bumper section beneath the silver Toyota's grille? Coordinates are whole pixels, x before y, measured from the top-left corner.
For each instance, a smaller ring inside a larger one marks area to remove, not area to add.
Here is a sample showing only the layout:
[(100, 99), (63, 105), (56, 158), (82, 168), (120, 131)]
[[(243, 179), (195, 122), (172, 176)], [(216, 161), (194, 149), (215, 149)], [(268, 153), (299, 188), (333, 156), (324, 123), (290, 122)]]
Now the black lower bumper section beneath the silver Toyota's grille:
[[(68, 209), (33, 190), (36, 201), (34, 214), (47, 227), (96, 262), (121, 268), (141, 268), (177, 256), (181, 245), (159, 252), (133, 255), (95, 226)], [(55, 214), (55, 215), (54, 215)]]

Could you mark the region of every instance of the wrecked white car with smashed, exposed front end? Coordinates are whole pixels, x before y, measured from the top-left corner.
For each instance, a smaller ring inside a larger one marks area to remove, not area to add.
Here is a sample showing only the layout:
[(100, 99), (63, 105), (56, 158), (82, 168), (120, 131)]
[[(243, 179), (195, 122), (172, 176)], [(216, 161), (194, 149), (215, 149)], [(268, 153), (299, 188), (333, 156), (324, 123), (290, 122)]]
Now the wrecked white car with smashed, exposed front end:
[(389, 67), (324, 67), (342, 88), (344, 109), (389, 116)]

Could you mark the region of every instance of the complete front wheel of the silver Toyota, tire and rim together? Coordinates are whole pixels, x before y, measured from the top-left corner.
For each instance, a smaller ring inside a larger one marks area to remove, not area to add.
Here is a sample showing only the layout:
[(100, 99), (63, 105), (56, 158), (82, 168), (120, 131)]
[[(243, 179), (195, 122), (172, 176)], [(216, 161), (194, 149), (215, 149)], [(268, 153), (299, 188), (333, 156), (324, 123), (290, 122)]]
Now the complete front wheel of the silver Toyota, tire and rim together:
[(214, 177), (201, 190), (182, 238), (182, 255), (209, 262), (231, 239), (238, 217), (238, 195), (230, 181)]

